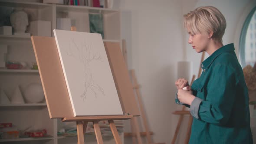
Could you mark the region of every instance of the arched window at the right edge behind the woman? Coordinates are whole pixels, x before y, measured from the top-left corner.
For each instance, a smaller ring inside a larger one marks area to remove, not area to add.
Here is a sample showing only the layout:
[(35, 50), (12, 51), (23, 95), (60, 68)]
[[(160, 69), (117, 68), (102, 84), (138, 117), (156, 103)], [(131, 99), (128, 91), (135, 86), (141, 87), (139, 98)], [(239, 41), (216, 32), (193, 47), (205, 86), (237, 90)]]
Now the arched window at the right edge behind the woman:
[[(255, 43), (255, 45), (253, 45)], [(254, 65), (256, 62), (256, 7), (249, 13), (243, 24), (239, 41), (242, 67)]]

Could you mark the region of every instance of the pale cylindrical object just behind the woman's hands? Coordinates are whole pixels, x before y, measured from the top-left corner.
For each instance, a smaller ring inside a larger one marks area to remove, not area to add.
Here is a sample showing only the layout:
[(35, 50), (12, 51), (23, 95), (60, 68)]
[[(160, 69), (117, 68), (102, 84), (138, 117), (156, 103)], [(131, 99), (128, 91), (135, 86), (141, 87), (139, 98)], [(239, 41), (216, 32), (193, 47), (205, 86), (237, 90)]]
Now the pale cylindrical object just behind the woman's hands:
[(177, 70), (177, 78), (181, 79), (187, 79), (188, 82), (192, 79), (192, 62), (188, 61), (180, 61), (177, 64), (178, 70)]

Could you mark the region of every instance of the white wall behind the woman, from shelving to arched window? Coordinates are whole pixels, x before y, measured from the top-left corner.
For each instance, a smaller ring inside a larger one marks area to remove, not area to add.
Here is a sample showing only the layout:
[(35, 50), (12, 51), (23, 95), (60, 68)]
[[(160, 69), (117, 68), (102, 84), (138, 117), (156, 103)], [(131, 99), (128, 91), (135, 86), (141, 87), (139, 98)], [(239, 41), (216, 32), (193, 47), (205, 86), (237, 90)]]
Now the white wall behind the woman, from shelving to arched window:
[[(174, 102), (177, 62), (193, 62), (195, 75), (200, 65), (201, 54), (187, 44), (187, 32), (182, 25), (183, 14), (199, 6), (217, 7), (227, 21), (223, 37), (225, 45), (234, 42), (239, 27), (237, 23), (251, 1), (121, 0), (121, 33), (127, 41), (128, 67), (135, 69), (141, 85), (142, 101), (150, 130), (154, 132), (154, 142), (171, 143), (177, 125), (178, 116), (171, 115), (172, 111), (181, 109)], [(184, 121), (177, 143), (183, 144), (186, 124), (187, 120)], [(129, 121), (125, 121), (125, 125), (125, 131), (130, 131)], [(125, 143), (131, 144), (131, 140), (126, 138)]]

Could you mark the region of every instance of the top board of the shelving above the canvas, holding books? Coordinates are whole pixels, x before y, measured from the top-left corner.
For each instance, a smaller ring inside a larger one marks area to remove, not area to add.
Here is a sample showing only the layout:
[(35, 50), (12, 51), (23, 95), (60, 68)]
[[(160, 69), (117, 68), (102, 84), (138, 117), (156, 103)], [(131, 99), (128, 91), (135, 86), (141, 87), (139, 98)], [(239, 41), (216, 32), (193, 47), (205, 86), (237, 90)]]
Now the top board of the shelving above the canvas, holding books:
[(56, 4), (56, 11), (72, 11), (72, 12), (83, 12), (83, 13), (115, 13), (119, 10), (106, 9), (101, 7), (87, 7), (87, 6), (70, 6), (70, 5), (59, 5)]

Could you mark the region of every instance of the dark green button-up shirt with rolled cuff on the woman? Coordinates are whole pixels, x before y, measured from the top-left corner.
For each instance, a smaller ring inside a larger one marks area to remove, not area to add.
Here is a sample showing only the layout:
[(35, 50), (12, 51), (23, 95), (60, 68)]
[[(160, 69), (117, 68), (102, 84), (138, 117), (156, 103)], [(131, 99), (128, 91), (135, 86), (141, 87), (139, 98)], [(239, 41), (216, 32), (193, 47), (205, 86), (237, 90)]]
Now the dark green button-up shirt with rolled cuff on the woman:
[(202, 62), (203, 72), (191, 86), (196, 98), (190, 144), (253, 144), (248, 89), (234, 50), (228, 44)]

